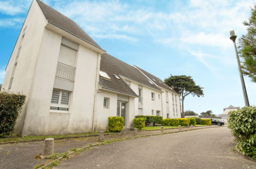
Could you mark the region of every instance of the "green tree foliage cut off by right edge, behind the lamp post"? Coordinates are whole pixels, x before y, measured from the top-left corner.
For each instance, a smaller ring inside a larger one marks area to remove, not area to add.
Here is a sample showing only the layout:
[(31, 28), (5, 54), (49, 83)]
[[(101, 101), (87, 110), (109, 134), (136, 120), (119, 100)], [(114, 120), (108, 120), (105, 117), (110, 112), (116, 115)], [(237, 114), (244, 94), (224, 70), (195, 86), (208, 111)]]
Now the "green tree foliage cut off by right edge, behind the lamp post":
[(239, 39), (239, 54), (242, 58), (241, 68), (253, 82), (256, 82), (256, 5), (251, 9), (251, 16), (243, 23), (247, 33)]

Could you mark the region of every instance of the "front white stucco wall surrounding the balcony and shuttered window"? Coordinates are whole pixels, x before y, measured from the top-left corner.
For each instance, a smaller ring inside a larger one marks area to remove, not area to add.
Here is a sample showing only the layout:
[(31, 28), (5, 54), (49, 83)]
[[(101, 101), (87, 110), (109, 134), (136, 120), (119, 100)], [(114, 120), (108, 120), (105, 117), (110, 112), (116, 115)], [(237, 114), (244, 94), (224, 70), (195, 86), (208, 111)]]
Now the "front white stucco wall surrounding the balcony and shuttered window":
[[(81, 133), (92, 130), (98, 53), (80, 45), (69, 113), (49, 110), (62, 35), (45, 28), (38, 55), (23, 135)], [(34, 126), (43, 126), (34, 128)]]

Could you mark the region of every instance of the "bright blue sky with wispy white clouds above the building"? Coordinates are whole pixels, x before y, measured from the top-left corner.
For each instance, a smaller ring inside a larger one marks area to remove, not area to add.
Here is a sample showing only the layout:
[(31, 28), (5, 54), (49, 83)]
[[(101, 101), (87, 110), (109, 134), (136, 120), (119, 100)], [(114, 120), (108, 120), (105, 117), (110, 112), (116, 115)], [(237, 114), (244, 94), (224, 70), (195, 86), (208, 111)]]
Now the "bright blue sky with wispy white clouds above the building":
[[(253, 0), (43, 1), (73, 19), (109, 54), (164, 79), (190, 75), (204, 97), (185, 98), (185, 110), (221, 114), (244, 106), (229, 31), (246, 33), (242, 22)], [(0, 0), (0, 83), (31, 1)], [(237, 40), (238, 41), (238, 40)], [(256, 83), (245, 77), (250, 104)]]

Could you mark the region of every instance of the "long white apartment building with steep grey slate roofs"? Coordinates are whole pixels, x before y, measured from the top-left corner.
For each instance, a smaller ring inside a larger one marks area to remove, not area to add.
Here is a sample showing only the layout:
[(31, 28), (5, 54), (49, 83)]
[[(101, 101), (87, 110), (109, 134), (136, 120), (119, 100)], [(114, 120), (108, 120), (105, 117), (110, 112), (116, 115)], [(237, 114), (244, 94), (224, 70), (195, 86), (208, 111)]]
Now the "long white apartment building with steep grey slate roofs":
[(131, 128), (135, 115), (180, 118), (180, 97), (161, 79), (109, 55), (73, 20), (41, 1), (30, 6), (2, 90), (26, 94), (15, 133), (107, 130), (109, 116)]

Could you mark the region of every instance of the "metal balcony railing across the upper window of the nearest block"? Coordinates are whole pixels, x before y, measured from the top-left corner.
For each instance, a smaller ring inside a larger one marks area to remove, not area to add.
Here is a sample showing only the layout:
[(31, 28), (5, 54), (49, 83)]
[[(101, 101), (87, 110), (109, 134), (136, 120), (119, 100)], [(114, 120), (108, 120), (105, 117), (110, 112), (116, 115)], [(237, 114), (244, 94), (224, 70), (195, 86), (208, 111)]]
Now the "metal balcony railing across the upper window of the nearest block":
[(74, 81), (75, 67), (58, 62), (55, 76), (59, 78), (67, 79), (70, 81)]

